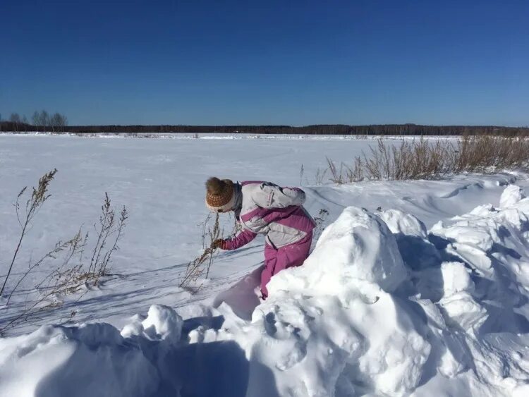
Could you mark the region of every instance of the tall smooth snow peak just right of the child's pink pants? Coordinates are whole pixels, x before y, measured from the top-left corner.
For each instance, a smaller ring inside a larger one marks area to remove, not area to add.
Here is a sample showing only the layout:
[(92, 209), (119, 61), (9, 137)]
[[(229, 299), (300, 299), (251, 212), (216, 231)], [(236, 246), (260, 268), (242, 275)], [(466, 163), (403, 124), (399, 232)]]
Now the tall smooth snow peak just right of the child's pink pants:
[(348, 207), (325, 228), (303, 267), (278, 274), (267, 288), (271, 295), (281, 290), (341, 295), (365, 281), (394, 291), (406, 277), (395, 236), (384, 221)]

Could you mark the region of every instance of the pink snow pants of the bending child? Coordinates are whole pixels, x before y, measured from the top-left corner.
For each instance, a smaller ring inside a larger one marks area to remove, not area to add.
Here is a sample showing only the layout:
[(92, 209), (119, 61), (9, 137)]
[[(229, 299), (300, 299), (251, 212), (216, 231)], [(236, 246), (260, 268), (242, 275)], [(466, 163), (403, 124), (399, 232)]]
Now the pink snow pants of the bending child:
[(288, 269), (288, 267), (301, 266), (307, 259), (312, 243), (312, 231), (297, 243), (285, 245), (277, 250), (272, 245), (265, 244), (265, 269), (261, 273), (262, 298), (268, 297), (267, 283), (274, 274)]

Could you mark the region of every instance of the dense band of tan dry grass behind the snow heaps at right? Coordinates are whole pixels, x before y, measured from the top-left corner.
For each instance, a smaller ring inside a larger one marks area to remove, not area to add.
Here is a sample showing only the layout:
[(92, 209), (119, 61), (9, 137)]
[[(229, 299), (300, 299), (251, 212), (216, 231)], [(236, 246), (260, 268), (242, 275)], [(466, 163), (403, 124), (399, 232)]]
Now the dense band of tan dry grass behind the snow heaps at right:
[(333, 183), (432, 179), (461, 172), (494, 172), (527, 168), (529, 140), (493, 135), (468, 135), (451, 140), (402, 140), (400, 145), (380, 139), (368, 154), (355, 157), (353, 164), (336, 166), (327, 158)]

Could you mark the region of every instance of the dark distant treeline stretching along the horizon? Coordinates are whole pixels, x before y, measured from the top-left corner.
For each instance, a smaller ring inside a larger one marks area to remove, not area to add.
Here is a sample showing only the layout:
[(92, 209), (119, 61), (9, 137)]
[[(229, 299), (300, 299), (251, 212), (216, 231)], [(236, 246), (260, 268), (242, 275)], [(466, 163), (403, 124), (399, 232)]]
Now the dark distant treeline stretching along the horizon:
[[(64, 127), (63, 127), (64, 128)], [(33, 131), (29, 124), (4, 121), (1, 131)], [(422, 126), (419, 124), (380, 124), (346, 126), (342, 124), (291, 126), (68, 126), (69, 133), (250, 133), (303, 135), (529, 135), (529, 127), (501, 126)]]

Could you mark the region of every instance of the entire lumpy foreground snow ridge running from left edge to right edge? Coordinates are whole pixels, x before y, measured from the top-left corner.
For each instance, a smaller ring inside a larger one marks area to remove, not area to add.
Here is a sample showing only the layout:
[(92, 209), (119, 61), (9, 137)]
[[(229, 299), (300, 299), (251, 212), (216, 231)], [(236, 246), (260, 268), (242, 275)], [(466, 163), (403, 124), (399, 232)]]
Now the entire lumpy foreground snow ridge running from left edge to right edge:
[(526, 396), (529, 199), (500, 203), (430, 231), (348, 207), (251, 320), (154, 305), (0, 339), (0, 395)]

